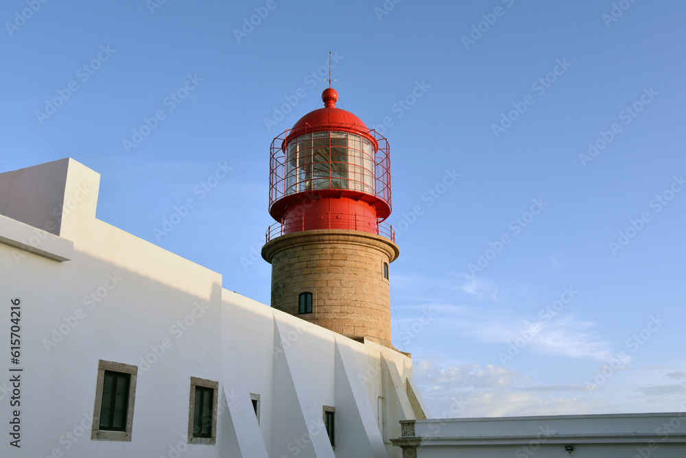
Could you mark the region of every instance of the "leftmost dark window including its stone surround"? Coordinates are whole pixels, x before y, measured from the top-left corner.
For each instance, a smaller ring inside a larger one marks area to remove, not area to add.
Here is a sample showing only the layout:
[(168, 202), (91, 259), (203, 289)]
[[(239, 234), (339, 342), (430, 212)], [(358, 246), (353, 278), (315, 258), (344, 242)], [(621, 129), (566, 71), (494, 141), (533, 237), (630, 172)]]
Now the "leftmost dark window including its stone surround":
[(131, 440), (138, 367), (98, 362), (91, 440)]

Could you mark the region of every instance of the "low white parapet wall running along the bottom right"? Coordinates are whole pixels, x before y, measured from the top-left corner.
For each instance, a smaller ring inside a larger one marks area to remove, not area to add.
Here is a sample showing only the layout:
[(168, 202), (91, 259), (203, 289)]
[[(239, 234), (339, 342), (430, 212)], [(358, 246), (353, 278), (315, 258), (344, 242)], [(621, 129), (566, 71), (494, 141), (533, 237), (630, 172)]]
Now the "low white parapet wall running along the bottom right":
[[(676, 406), (675, 406), (676, 407)], [(674, 413), (407, 420), (407, 457), (686, 457), (686, 407)]]

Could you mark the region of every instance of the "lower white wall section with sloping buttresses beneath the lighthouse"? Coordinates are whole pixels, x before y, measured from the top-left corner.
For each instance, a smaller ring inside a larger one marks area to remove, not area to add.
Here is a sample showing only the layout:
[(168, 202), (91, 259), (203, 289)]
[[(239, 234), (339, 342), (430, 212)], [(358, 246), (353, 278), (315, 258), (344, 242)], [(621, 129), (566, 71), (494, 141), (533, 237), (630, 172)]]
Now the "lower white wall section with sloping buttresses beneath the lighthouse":
[[(335, 408), (335, 456), (397, 457), (412, 360), (224, 290), (222, 359), (242, 456), (333, 457), (324, 406)], [(250, 405), (259, 394), (260, 422)], [(379, 402), (381, 399), (381, 402)], [(255, 449), (259, 446), (259, 450)], [(266, 453), (266, 455), (263, 455)]]

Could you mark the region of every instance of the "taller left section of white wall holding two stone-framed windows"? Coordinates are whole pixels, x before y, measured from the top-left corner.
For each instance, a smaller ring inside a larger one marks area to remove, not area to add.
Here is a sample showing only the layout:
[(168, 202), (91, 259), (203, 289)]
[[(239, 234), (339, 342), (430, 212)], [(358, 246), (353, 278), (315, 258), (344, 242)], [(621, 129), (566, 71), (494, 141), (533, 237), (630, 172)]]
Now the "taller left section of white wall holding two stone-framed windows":
[[(61, 221), (55, 219), (60, 237), (73, 241), (71, 261), (0, 244), (2, 310), (7, 310), (10, 298), (21, 298), (25, 368), (21, 450), (3, 440), (0, 455), (168, 456), (169, 447), (187, 436), (190, 377), (221, 378), (221, 276), (95, 219), (99, 176), (78, 162), (67, 162), (65, 198), (79, 186), (91, 189), (69, 213), (61, 214)], [(64, 167), (54, 165), (24, 174), (43, 183), (60, 183), (52, 173)], [(3, 180), (0, 176), (0, 183)], [(38, 202), (40, 195), (25, 195), (48, 191), (29, 181), (22, 184), (12, 195), (19, 194), (23, 201)], [(59, 200), (49, 197), (51, 204)], [(54, 208), (38, 206), (36, 211), (48, 215), (25, 219), (44, 221)], [(192, 319), (193, 326), (183, 332), (174, 327), (177, 320), (191, 322), (186, 317), (199, 303), (209, 309), (196, 311), (199, 317)], [(6, 315), (0, 320), (3, 346), (10, 340)], [(163, 347), (164, 339), (169, 339), (169, 348)], [(143, 362), (145, 357), (153, 363)], [(132, 442), (91, 441), (89, 421), (83, 422), (87, 427), (82, 433), (82, 420), (93, 415), (99, 359), (139, 367)], [(9, 365), (5, 359), (0, 366), (0, 387), (8, 379)], [(5, 394), (0, 400), (3, 418), (8, 418), (9, 407)], [(67, 432), (80, 437), (74, 436), (74, 441)], [(184, 456), (219, 457), (220, 452), (217, 447), (191, 446)]]

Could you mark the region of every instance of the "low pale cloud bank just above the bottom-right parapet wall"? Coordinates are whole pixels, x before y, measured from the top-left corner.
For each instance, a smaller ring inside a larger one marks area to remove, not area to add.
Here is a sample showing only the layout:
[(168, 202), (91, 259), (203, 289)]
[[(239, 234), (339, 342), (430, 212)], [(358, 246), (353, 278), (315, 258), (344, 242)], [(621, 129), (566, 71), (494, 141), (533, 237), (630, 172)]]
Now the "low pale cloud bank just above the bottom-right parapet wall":
[[(681, 371), (615, 370), (597, 390), (578, 384), (543, 385), (510, 367), (426, 357), (414, 361), (414, 380), (434, 418), (686, 411)], [(676, 376), (675, 376), (676, 375)], [(638, 383), (637, 383), (638, 381)]]

